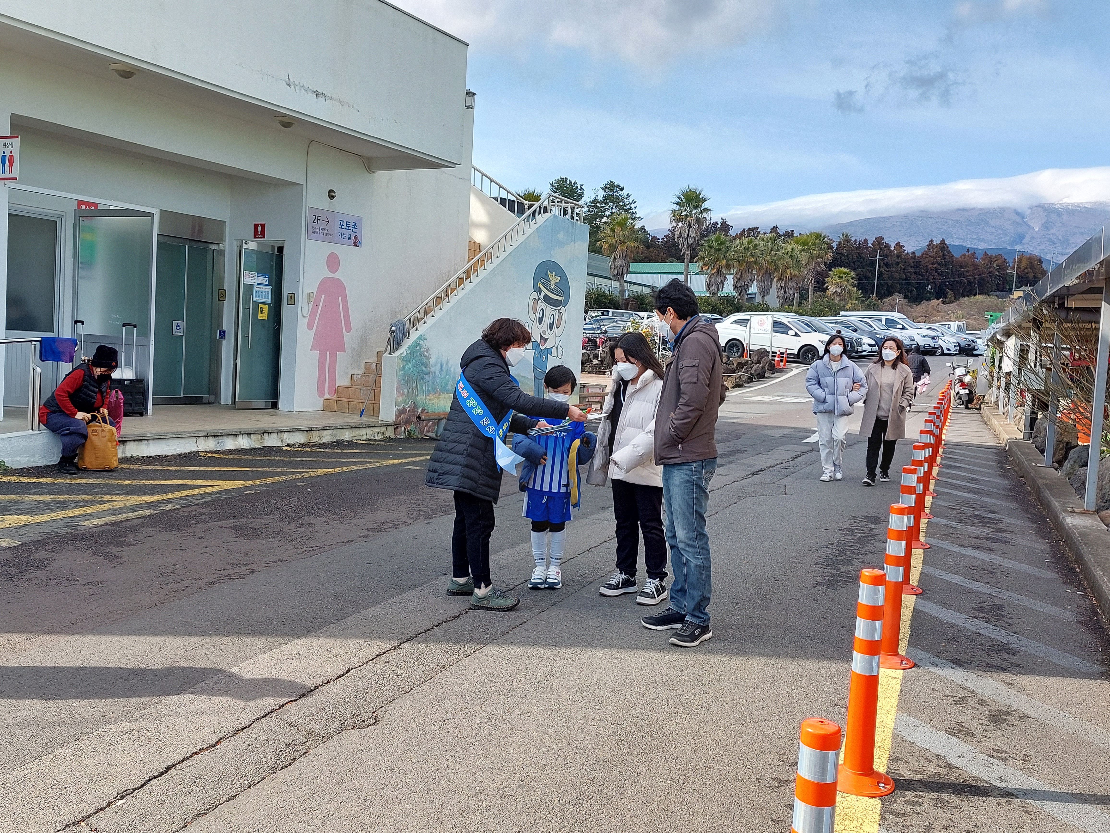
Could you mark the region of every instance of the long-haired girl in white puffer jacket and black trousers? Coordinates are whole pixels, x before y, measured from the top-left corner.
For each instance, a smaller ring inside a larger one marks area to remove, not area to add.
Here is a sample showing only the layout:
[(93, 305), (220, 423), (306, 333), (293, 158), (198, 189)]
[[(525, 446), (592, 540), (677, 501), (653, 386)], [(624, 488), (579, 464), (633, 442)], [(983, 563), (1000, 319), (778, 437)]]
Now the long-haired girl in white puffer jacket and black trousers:
[(636, 554), (644, 536), (647, 579), (638, 604), (667, 598), (667, 543), (663, 534), (663, 469), (655, 464), (655, 411), (663, 390), (663, 365), (647, 339), (625, 333), (609, 348), (613, 382), (602, 409), (597, 450), (586, 481), (613, 481), (617, 560), (598, 589), (605, 596), (636, 593)]

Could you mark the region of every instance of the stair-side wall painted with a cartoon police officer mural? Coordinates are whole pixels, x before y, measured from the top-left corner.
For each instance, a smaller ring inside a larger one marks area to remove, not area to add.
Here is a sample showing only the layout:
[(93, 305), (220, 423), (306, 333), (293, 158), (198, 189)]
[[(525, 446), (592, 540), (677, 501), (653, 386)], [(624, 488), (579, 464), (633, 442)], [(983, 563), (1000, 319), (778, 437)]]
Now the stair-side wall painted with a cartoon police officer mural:
[(587, 242), (586, 225), (549, 215), (386, 357), (382, 413), (394, 414), (398, 435), (435, 431), (434, 421), (418, 418), (451, 408), (463, 351), (496, 318), (519, 319), (532, 331), (527, 355), (512, 369), (522, 390), (542, 395), (544, 373), (556, 364), (581, 373)]

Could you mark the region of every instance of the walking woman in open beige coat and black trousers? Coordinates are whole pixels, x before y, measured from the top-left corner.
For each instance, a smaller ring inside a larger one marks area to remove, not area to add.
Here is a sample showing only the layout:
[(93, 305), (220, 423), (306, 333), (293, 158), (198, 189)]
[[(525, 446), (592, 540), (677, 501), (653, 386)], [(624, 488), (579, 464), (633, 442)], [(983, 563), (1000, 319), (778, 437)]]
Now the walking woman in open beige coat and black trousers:
[(906, 412), (914, 403), (914, 373), (906, 362), (901, 339), (892, 335), (884, 339), (879, 357), (867, 365), (864, 375), (867, 379), (867, 397), (864, 399), (864, 421), (859, 425), (860, 436), (867, 438), (864, 485), (875, 485), (876, 466), (879, 480), (890, 480), (895, 444), (906, 436)]

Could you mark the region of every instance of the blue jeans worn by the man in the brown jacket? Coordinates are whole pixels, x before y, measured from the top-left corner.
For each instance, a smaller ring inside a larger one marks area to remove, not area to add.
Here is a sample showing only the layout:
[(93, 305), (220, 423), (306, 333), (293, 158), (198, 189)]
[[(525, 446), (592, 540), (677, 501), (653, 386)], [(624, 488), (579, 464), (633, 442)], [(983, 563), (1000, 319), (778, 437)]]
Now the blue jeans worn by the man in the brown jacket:
[(709, 566), (709, 534), (705, 511), (709, 506), (709, 481), (717, 460), (674, 463), (663, 466), (664, 532), (670, 548), (670, 606), (686, 614), (686, 621), (708, 624), (713, 576)]

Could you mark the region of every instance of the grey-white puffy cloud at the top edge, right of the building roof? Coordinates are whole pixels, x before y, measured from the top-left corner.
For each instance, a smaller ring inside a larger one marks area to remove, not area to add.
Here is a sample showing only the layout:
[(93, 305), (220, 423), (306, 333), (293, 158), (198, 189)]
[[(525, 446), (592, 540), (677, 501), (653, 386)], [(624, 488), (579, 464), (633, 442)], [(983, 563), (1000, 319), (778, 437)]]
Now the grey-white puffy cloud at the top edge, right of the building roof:
[(537, 41), (640, 68), (747, 40), (811, 0), (395, 0), (483, 49), (519, 53)]

